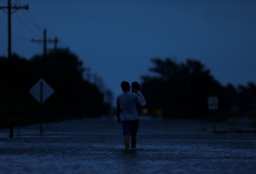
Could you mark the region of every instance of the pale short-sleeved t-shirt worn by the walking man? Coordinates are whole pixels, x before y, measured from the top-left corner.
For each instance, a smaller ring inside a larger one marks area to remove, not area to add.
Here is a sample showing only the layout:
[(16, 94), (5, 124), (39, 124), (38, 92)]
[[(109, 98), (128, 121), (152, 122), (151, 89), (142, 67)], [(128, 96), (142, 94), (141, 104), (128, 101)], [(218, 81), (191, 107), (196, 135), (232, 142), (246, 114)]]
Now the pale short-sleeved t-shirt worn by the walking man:
[(120, 116), (123, 121), (137, 120), (139, 118), (136, 102), (140, 102), (140, 98), (135, 93), (124, 92), (117, 96), (116, 105), (121, 105), (123, 109), (123, 114)]

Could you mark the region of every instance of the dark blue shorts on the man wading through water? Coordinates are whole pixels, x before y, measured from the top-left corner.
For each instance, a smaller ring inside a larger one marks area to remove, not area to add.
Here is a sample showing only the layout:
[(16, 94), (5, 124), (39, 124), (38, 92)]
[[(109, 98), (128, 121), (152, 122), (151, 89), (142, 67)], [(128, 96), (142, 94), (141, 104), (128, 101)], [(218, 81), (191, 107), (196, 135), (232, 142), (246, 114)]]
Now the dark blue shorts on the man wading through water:
[(130, 120), (130, 121), (122, 121), (123, 126), (123, 135), (137, 135), (138, 127), (139, 127), (139, 119)]

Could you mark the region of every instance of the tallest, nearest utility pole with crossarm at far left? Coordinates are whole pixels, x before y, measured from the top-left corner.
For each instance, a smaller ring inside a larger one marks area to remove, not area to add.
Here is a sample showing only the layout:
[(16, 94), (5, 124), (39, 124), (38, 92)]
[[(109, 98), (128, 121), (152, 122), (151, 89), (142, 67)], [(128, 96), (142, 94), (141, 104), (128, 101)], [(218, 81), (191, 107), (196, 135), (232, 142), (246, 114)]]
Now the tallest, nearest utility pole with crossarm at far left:
[[(8, 0), (8, 6), (0, 6), (0, 9), (8, 9), (8, 66), (9, 66), (9, 118), (10, 118), (10, 137), (13, 137), (13, 125), (11, 121), (12, 116), (12, 32), (11, 32), (11, 14), (19, 9), (28, 10), (28, 4), (26, 6), (17, 6), (16, 4), (12, 6), (11, 0)], [(13, 11), (11, 11), (14, 9)]]

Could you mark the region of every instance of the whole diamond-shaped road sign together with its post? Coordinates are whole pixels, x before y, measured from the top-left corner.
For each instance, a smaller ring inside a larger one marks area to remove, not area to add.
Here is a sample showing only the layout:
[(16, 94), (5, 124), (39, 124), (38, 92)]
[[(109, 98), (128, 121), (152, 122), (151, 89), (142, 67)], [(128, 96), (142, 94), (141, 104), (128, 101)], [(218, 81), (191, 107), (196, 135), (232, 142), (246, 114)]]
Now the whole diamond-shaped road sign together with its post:
[(40, 133), (43, 133), (43, 103), (54, 93), (44, 79), (40, 79), (29, 89), (29, 93), (40, 103)]

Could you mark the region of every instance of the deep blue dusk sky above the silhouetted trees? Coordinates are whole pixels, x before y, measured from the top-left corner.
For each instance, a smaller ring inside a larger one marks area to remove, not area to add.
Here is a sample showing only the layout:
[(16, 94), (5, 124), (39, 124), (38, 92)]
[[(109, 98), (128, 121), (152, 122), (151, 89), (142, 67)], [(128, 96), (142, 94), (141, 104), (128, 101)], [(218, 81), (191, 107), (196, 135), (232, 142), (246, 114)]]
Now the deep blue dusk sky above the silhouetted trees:
[[(151, 58), (199, 60), (222, 85), (256, 82), (254, 0), (12, 0), (12, 53), (43, 53), (31, 39), (56, 36), (116, 96), (120, 83), (142, 82)], [(7, 0), (0, 0), (6, 6)], [(0, 10), (0, 55), (8, 56), (7, 10)], [(53, 48), (49, 43), (47, 48)], [(146, 98), (146, 96), (145, 96)], [(113, 105), (115, 100), (113, 101)]]

